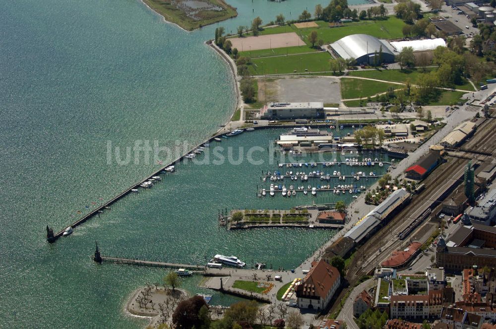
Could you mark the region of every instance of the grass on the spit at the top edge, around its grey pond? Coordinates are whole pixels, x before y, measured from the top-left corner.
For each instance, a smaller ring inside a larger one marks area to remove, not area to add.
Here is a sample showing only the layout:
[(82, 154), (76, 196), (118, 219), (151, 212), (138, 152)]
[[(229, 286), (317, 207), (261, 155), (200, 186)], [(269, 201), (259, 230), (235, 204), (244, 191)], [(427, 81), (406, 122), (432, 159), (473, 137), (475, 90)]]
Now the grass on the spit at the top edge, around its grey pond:
[(222, 7), (223, 10), (215, 11), (215, 10), (201, 10), (196, 13), (196, 16), (199, 17), (199, 20), (193, 20), (190, 17), (186, 16), (186, 14), (175, 5), (161, 1), (161, 0), (144, 0), (144, 2), (153, 10), (155, 10), (160, 15), (164, 16), (164, 18), (172, 23), (178, 24), (185, 30), (191, 31), (197, 29), (199, 27), (213, 24), (216, 22), (220, 22), (231, 17), (236, 17), (238, 12), (236, 9), (229, 4), (227, 4), (224, 0), (205, 0), (206, 2), (210, 2), (215, 6)]

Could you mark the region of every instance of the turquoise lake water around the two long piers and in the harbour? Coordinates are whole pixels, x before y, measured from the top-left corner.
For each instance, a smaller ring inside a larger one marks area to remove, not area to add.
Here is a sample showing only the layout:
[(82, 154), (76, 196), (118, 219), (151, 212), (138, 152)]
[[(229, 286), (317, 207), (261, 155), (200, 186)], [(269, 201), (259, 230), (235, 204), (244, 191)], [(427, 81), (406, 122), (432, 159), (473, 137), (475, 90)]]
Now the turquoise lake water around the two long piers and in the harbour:
[[(1, 328), (142, 328), (124, 315), (128, 295), (164, 270), (93, 264), (103, 254), (203, 263), (223, 252), (286, 268), (297, 266), (333, 231), (218, 230), (222, 208), (287, 208), (302, 196), (256, 197), (262, 170), (243, 162), (181, 164), (151, 190), (124, 198), (55, 244), (56, 230), (108, 200), (160, 164), (107, 164), (107, 142), (194, 144), (214, 133), (235, 105), (227, 65), (204, 45), (216, 26), (247, 25), (309, 10), (319, 1), (230, 1), (236, 19), (193, 33), (166, 24), (137, 0), (1, 1), (0, 11), (0, 317)], [(310, 8), (311, 7), (311, 8)], [(254, 8), (254, 13), (251, 8)], [(280, 131), (222, 143), (261, 145)], [(343, 197), (351, 198), (350, 196)], [(317, 202), (332, 202), (324, 195)], [(260, 255), (263, 255), (261, 258)], [(186, 280), (196, 292), (199, 278)], [(215, 295), (213, 303), (232, 297)]]

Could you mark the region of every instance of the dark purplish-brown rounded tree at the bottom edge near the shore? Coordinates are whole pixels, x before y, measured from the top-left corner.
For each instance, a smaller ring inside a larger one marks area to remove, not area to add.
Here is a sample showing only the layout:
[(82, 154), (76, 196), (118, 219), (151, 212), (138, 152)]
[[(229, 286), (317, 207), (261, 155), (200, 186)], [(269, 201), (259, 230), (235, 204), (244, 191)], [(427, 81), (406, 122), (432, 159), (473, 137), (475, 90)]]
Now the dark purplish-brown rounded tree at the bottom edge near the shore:
[(204, 312), (202, 312), (202, 319), (199, 317), (202, 307), (206, 308), (206, 303), (200, 296), (193, 296), (179, 303), (172, 314), (172, 323), (175, 325), (175, 328), (201, 328), (204, 325)]

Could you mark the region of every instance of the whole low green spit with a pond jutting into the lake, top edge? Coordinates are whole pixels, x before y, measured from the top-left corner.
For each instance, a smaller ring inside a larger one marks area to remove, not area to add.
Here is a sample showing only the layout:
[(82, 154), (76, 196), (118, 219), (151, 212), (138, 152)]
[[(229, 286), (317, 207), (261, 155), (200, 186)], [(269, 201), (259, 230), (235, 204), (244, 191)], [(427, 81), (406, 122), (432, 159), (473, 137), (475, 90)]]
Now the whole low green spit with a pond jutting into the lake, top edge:
[(236, 8), (224, 0), (143, 0), (166, 21), (187, 31), (236, 17)]

